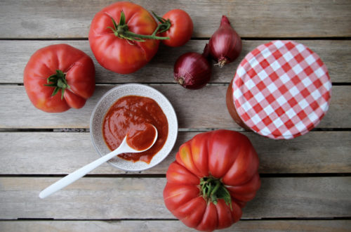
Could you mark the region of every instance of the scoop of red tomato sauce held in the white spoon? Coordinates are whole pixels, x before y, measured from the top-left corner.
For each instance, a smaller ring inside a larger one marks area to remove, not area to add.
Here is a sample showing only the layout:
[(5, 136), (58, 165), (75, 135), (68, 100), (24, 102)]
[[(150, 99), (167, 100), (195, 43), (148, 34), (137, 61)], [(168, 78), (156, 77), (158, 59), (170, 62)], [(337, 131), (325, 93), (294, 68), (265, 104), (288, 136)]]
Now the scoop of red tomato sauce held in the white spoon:
[(128, 131), (126, 142), (134, 150), (146, 150), (152, 146), (156, 130), (152, 124), (136, 124)]

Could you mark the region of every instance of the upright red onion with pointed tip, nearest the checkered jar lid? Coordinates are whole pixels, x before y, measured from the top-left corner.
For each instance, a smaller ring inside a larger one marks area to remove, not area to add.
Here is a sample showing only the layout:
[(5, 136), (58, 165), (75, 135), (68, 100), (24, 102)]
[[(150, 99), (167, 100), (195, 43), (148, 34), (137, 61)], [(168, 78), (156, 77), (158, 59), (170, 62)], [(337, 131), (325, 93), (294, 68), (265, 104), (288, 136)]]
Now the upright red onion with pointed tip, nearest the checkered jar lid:
[(241, 53), (241, 39), (225, 15), (220, 20), (220, 27), (212, 35), (208, 48), (211, 57), (220, 67), (232, 62)]

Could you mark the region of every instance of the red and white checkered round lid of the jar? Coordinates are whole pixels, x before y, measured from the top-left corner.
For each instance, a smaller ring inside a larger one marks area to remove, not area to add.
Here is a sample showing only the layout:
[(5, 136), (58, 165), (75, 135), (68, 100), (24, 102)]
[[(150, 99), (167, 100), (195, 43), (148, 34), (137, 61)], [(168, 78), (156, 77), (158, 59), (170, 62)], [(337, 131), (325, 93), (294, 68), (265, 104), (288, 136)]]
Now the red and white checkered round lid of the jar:
[(258, 134), (295, 138), (329, 108), (331, 80), (319, 56), (295, 41), (271, 41), (247, 54), (232, 82), (241, 120)]

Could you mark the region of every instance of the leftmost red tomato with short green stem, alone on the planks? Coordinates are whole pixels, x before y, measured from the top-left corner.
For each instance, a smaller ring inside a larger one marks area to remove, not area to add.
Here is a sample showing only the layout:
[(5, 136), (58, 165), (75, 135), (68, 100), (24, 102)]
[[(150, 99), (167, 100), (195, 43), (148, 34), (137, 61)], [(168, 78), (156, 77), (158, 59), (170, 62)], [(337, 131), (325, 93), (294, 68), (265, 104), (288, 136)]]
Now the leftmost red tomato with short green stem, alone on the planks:
[(25, 90), (33, 105), (45, 112), (82, 108), (95, 90), (93, 60), (67, 44), (36, 51), (25, 66)]

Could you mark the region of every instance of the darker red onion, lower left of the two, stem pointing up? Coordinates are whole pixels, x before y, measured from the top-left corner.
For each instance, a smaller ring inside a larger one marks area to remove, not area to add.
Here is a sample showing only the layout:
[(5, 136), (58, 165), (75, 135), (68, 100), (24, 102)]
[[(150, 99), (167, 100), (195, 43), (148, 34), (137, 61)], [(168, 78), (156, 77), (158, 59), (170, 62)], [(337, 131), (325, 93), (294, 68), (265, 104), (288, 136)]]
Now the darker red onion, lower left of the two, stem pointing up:
[(174, 79), (186, 89), (200, 89), (211, 78), (211, 65), (208, 61), (208, 45), (204, 53), (188, 52), (178, 58), (174, 65)]

